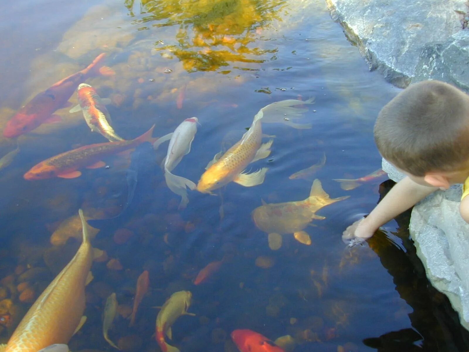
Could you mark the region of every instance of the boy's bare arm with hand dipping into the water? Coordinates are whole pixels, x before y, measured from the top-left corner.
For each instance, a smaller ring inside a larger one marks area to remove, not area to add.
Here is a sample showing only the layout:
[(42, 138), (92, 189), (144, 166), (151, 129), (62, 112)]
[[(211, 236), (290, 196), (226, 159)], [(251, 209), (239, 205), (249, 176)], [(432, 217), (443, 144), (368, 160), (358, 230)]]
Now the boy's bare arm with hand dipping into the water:
[(437, 187), (423, 186), (407, 176), (404, 177), (394, 185), (366, 218), (350, 225), (343, 232), (342, 239), (345, 241), (355, 239), (353, 242), (359, 243), (370, 238), (381, 225), (413, 207), (436, 190), (438, 190)]

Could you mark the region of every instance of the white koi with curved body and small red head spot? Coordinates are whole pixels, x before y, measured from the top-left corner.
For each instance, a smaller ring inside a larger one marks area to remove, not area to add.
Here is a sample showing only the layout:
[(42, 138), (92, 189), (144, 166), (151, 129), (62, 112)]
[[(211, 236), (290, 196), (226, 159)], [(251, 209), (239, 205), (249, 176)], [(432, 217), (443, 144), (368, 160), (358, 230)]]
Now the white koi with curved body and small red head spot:
[(179, 208), (185, 208), (189, 199), (187, 198), (187, 188), (193, 190), (196, 184), (182, 176), (176, 176), (171, 173), (173, 169), (181, 162), (182, 157), (190, 152), (190, 146), (197, 132), (197, 117), (185, 119), (173, 133), (159, 138), (153, 148), (158, 149), (159, 145), (169, 139), (168, 152), (163, 161), (162, 168), (165, 172), (166, 184), (173, 193), (181, 196)]

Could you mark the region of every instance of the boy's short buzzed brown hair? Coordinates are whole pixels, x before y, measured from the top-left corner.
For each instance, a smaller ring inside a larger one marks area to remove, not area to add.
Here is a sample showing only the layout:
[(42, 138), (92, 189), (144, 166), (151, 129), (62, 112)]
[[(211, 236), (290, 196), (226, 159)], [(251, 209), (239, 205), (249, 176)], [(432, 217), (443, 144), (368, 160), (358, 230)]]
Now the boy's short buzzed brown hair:
[(469, 96), (439, 81), (410, 85), (379, 112), (378, 150), (414, 176), (469, 166)]

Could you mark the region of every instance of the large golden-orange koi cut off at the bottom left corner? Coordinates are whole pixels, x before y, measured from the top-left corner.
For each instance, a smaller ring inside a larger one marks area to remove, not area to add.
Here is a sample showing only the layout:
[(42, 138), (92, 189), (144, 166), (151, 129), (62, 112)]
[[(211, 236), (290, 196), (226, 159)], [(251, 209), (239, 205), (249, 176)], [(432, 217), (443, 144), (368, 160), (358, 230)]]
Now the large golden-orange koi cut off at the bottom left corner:
[(55, 277), (23, 317), (1, 352), (37, 352), (51, 344), (68, 344), (82, 321), (85, 283), (93, 261), (88, 224), (83, 212), (83, 242), (75, 256)]

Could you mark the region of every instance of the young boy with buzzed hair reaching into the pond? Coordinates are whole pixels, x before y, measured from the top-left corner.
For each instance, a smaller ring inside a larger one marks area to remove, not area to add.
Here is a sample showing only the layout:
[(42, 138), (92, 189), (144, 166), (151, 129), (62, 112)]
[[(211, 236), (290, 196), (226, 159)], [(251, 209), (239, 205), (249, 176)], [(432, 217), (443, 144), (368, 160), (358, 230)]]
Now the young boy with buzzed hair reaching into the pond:
[(342, 235), (353, 246), (430, 193), (463, 184), (460, 213), (469, 222), (469, 96), (439, 81), (410, 85), (379, 112), (374, 137), (379, 153), (401, 181), (366, 217)]

